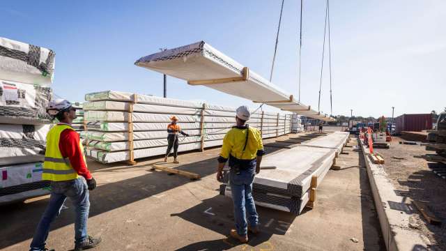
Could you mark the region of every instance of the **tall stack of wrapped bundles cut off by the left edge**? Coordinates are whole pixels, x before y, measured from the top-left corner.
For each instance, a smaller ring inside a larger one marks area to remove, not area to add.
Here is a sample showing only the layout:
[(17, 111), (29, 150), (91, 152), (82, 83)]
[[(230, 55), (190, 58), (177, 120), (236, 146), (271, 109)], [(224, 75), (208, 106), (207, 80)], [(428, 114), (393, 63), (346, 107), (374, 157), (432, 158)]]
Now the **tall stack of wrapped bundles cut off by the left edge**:
[(54, 52), (0, 38), (0, 203), (47, 193), (41, 181)]

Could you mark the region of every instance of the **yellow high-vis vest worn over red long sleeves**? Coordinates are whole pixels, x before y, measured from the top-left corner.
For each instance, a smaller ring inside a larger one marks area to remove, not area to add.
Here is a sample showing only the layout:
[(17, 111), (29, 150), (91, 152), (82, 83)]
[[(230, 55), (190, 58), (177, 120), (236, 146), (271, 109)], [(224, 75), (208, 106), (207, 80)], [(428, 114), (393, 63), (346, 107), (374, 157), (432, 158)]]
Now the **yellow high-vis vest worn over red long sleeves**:
[[(44, 181), (70, 181), (79, 177), (76, 170), (71, 167), (70, 160), (63, 158), (61, 150), (59, 150), (61, 133), (66, 129), (73, 130), (71, 126), (58, 124), (53, 126), (47, 134), (47, 150), (45, 151), (42, 174)], [(84, 146), (80, 140), (79, 147), (85, 161)]]

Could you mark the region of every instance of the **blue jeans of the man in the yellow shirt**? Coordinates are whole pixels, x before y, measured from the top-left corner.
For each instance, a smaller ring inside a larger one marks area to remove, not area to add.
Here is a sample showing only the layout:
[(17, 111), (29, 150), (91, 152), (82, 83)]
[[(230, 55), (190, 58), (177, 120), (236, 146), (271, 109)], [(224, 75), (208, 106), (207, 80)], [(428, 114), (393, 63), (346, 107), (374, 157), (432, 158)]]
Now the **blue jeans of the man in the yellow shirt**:
[[(254, 168), (240, 170), (240, 174), (235, 174), (233, 170), (229, 172), (229, 185), (231, 185), (232, 200), (234, 203), (234, 220), (236, 221), (237, 234), (245, 236), (247, 234), (247, 212), (249, 225), (256, 227), (259, 224), (256, 205), (252, 198), (252, 183), (254, 182)], [(245, 210), (246, 208), (246, 210)]]

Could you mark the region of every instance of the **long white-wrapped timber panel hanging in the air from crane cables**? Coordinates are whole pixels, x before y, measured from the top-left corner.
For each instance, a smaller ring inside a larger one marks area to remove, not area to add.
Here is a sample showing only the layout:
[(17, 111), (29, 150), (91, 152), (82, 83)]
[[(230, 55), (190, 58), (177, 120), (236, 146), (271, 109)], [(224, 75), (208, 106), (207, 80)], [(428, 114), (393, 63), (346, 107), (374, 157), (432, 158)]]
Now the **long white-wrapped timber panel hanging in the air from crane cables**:
[[(311, 110), (268, 80), (200, 41), (141, 57), (135, 65), (287, 111)], [(312, 111), (314, 112), (314, 111)], [(329, 119), (314, 114), (316, 119)]]

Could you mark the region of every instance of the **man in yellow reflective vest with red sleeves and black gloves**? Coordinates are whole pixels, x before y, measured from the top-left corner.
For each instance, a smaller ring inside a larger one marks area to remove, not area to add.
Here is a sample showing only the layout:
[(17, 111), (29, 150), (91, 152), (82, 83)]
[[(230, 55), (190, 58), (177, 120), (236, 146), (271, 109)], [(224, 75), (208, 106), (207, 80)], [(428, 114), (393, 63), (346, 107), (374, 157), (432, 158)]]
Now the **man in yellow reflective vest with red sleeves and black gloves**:
[(96, 187), (96, 181), (86, 166), (84, 147), (79, 135), (71, 127), (76, 119), (76, 109), (67, 100), (49, 102), (49, 115), (58, 119), (47, 135), (47, 149), (43, 163), (42, 179), (51, 181), (49, 204), (37, 226), (31, 242), (31, 250), (48, 250), (46, 240), (49, 225), (61, 213), (66, 198), (75, 207), (75, 251), (94, 248), (101, 238), (87, 234), (86, 222), (89, 218), (89, 190)]

